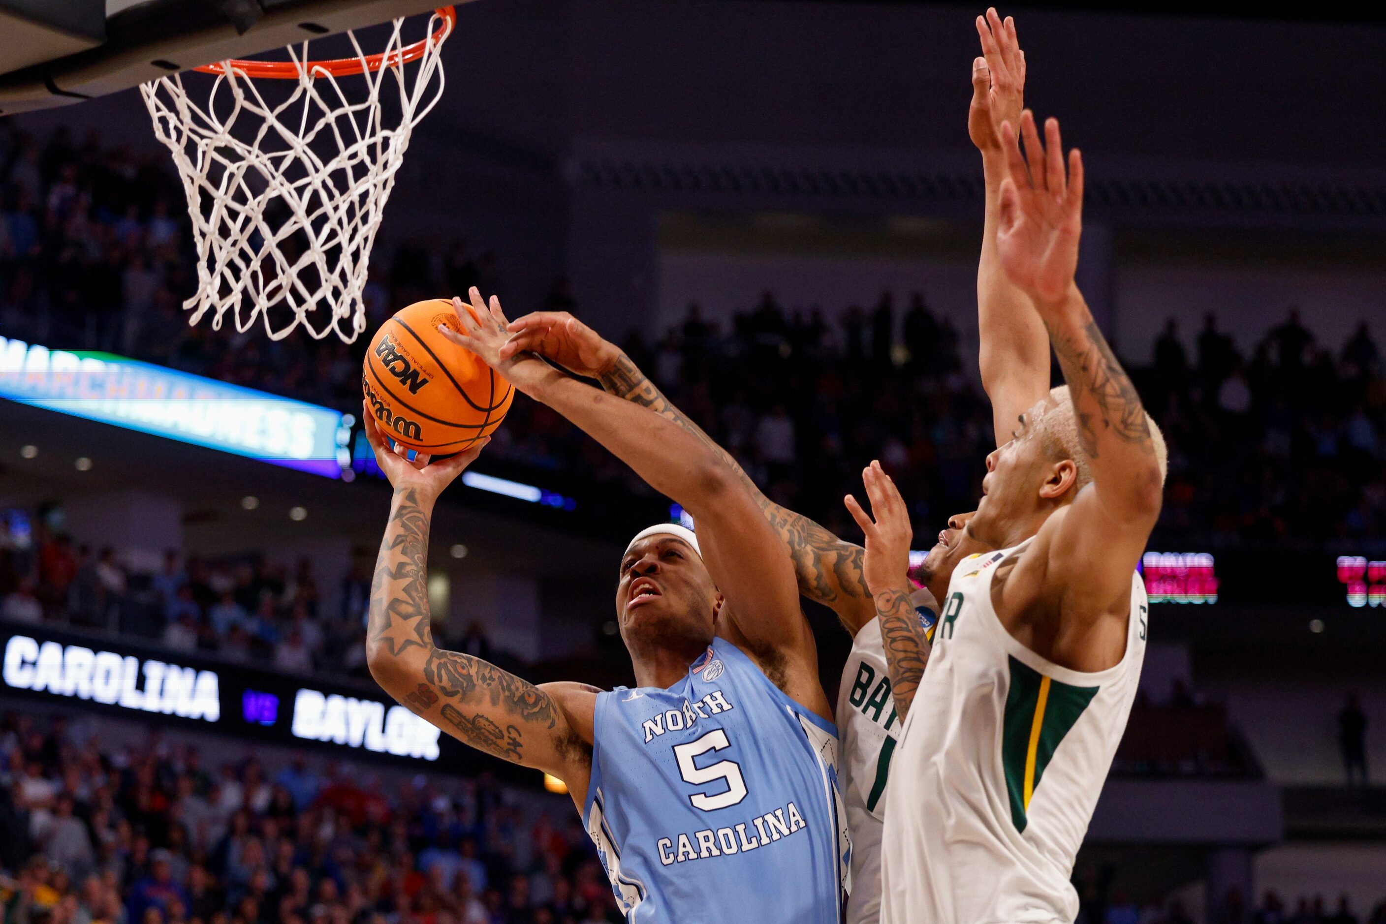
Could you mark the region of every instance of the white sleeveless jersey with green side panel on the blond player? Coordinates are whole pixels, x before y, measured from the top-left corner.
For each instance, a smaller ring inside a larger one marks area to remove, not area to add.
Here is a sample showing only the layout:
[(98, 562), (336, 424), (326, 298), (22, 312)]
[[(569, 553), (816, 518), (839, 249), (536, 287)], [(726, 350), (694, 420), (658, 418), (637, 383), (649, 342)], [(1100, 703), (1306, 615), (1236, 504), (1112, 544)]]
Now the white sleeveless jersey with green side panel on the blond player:
[(891, 766), (881, 849), (887, 924), (1058, 924), (1069, 877), (1145, 658), (1145, 586), (1131, 576), (1120, 664), (1081, 673), (1016, 641), (991, 605), (997, 565), (965, 558)]

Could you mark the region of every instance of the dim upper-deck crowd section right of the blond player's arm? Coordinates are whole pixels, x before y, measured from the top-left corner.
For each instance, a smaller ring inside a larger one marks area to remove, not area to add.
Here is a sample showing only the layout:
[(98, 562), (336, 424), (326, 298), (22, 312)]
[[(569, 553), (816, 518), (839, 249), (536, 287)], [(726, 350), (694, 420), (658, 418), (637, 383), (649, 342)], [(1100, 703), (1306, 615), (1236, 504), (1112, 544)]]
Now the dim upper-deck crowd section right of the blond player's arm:
[(1138, 384), (1170, 442), (1166, 535), (1386, 536), (1386, 377), (1365, 321), (1333, 350), (1292, 309), (1242, 356), (1209, 316), (1191, 360), (1171, 320)]

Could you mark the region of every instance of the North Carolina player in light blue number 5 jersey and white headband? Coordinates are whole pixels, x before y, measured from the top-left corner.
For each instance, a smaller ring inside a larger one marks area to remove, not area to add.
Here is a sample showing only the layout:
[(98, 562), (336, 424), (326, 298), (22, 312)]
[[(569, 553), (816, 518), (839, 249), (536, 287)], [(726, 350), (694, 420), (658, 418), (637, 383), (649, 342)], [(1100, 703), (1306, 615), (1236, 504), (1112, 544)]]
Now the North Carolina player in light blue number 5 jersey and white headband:
[[(836, 729), (794, 569), (750, 492), (705, 443), (521, 353), (499, 303), (456, 305), (475, 352), (588, 431), (656, 490), (676, 525), (636, 535), (615, 592), (638, 688), (529, 684), (434, 644), (426, 589), (434, 503), (477, 450), (430, 464), (366, 432), (395, 488), (371, 589), (371, 675), (396, 700), (488, 754), (568, 785), (631, 921), (834, 924), (848, 845)], [(665, 453), (681, 460), (668, 465)]]

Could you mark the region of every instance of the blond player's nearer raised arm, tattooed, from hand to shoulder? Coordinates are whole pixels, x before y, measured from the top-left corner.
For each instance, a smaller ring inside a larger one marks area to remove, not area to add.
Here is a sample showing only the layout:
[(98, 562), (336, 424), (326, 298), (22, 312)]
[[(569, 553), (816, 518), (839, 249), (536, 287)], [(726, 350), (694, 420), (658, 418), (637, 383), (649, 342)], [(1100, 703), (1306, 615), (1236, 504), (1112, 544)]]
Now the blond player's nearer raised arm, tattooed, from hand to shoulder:
[(1064, 587), (1064, 614), (1120, 611), (1145, 542), (1160, 515), (1163, 461), (1141, 396), (1088, 312), (1074, 283), (1082, 231), (1082, 158), (1064, 172), (1059, 122), (1020, 119), (1028, 166), (1015, 130), (1002, 126), (1009, 176), (1002, 186), (999, 254), (1006, 274), (1031, 298), (1059, 357), (1073, 400), (1078, 442), (1092, 482), (1041, 529), (1045, 585)]

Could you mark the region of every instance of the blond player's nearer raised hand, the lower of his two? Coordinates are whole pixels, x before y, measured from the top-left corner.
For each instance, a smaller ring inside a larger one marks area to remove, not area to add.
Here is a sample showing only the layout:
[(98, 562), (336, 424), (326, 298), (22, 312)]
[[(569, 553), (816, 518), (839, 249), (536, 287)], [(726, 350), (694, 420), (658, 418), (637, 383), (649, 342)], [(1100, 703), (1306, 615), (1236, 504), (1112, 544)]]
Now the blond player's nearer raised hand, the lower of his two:
[(1041, 316), (1069, 295), (1082, 234), (1082, 155), (1077, 148), (1069, 151), (1066, 172), (1059, 121), (1048, 119), (1044, 127), (1041, 143), (1034, 114), (1026, 109), (1020, 115), (1021, 155), (1015, 126), (1001, 126), (1009, 176), (1001, 184), (997, 238), (1001, 266)]

